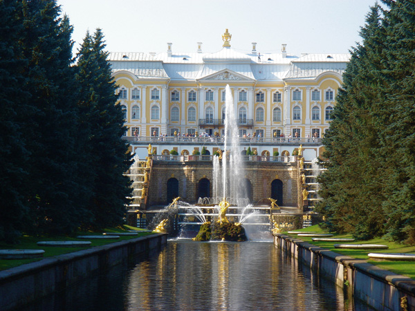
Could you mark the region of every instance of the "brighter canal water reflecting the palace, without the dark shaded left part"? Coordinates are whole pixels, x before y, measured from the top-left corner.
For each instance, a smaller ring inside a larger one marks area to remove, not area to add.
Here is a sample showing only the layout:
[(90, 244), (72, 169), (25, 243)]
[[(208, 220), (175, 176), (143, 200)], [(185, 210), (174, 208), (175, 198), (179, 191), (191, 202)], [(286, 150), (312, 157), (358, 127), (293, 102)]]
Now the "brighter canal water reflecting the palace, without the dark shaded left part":
[(272, 243), (169, 241), (149, 262), (131, 270), (127, 310), (371, 310)]

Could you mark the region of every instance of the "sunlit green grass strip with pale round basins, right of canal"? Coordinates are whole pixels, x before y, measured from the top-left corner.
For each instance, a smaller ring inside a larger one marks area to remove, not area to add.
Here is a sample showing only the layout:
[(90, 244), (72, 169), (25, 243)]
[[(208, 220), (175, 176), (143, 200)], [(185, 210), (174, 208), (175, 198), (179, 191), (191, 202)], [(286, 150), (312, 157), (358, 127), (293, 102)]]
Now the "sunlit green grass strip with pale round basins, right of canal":
[[(295, 230), (298, 232), (316, 232), (316, 233), (328, 233), (324, 232), (318, 225), (313, 225), (304, 229)], [(286, 234), (286, 232), (284, 232)], [(288, 234), (295, 236), (295, 234)], [(350, 234), (335, 234), (333, 238), (353, 238)], [(389, 246), (388, 249), (339, 249), (335, 248), (334, 244), (340, 242), (324, 242), (324, 241), (312, 241), (311, 237), (301, 236), (299, 237), (303, 241), (311, 243), (315, 246), (324, 247), (330, 249), (338, 254), (350, 256), (352, 258), (365, 259), (368, 263), (376, 265), (382, 269), (401, 274), (403, 276), (409, 276), (415, 279), (415, 263), (414, 261), (376, 261), (367, 256), (369, 253), (403, 253), (403, 254), (415, 254), (415, 246), (407, 246), (395, 242), (386, 241), (383, 238), (374, 238), (369, 241), (353, 241), (347, 242), (347, 244), (382, 244)]]

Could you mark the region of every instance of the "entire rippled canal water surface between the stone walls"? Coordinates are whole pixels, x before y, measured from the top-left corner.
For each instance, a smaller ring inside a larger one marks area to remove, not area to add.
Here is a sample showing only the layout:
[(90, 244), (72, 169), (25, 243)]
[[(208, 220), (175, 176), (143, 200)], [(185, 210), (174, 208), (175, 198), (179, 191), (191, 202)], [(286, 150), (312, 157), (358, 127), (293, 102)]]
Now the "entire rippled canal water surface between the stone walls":
[(273, 243), (169, 240), (24, 310), (374, 310)]

